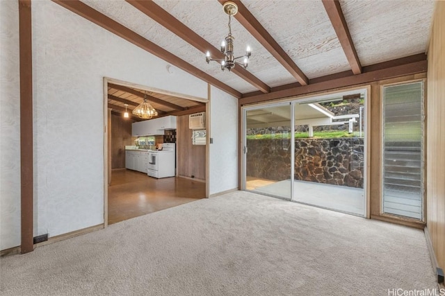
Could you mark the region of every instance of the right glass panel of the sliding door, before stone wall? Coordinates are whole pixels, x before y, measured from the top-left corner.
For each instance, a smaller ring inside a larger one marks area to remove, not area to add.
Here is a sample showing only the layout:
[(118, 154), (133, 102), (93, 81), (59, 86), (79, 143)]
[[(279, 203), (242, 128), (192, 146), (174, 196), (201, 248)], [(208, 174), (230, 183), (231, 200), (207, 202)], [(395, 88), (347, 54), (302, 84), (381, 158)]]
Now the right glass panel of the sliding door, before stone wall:
[(366, 93), (294, 103), (292, 200), (365, 215)]

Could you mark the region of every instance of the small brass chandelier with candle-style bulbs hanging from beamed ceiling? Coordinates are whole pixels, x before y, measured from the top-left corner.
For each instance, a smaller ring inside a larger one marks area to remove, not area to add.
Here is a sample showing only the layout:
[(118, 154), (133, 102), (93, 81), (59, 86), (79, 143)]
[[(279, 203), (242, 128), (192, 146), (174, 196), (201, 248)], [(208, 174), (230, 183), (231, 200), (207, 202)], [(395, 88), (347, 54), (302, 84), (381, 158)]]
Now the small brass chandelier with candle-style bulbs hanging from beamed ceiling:
[[(245, 50), (245, 55), (234, 58), (235, 37), (232, 36), (232, 27), (230, 26), (230, 20), (231, 20), (232, 15), (236, 15), (236, 13), (238, 12), (238, 6), (234, 2), (228, 1), (228, 2), (224, 3), (223, 10), (227, 15), (229, 15), (229, 35), (227, 35), (225, 37), (225, 40), (223, 40), (223, 42), (221, 42), (221, 53), (223, 53), (225, 55), (225, 57), (224, 57), (224, 60), (213, 59), (210, 56), (210, 52), (207, 51), (207, 53), (206, 53), (207, 64), (209, 64), (209, 62), (211, 60), (220, 62), (221, 70), (223, 70), (223, 71), (225, 69), (227, 69), (229, 71), (232, 70), (232, 68), (235, 67), (235, 64), (239, 64), (241, 67), (247, 68), (248, 64), (249, 64), (249, 57), (251, 55), (250, 46), (248, 46), (247, 49)], [(238, 60), (238, 59), (243, 59), (243, 62), (242, 63), (237, 62), (236, 60)]]

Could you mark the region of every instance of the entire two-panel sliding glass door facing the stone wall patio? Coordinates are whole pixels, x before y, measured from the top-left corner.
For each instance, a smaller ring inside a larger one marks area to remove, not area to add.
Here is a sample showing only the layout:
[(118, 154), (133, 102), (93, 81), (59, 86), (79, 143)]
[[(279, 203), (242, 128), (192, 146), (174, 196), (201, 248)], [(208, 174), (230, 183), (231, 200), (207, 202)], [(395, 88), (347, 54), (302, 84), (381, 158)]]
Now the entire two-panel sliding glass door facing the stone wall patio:
[(244, 107), (243, 189), (368, 216), (367, 93)]

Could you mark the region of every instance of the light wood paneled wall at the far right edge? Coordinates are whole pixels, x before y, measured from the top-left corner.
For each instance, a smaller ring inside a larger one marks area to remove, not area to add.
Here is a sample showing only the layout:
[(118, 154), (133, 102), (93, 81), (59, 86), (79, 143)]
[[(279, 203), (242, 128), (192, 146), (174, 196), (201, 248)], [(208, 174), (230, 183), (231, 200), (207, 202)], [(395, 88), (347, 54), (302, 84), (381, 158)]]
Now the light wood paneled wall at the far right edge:
[(437, 1), (428, 49), (427, 227), (445, 268), (445, 2)]

